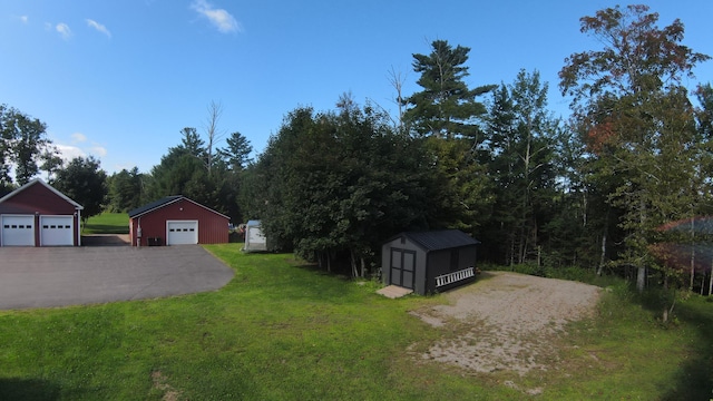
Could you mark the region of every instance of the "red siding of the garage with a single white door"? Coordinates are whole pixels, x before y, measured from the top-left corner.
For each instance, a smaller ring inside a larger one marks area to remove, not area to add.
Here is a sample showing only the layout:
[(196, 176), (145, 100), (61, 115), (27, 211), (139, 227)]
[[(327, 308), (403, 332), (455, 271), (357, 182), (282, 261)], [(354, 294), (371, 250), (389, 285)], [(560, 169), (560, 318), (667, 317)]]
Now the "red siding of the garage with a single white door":
[(148, 245), (149, 237), (159, 237), (166, 244), (166, 221), (198, 221), (198, 244), (227, 243), (228, 218), (186, 199), (179, 199), (145, 215), (131, 218), (129, 235), (136, 246), (136, 231), (141, 224), (141, 246)]

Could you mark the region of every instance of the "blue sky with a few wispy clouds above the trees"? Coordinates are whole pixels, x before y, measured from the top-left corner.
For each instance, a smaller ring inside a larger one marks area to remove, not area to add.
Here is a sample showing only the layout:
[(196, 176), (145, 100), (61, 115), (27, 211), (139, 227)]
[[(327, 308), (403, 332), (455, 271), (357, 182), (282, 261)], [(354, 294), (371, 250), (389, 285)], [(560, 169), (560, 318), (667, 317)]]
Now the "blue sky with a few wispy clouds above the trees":
[[(684, 43), (713, 56), (713, 1), (645, 2), (660, 27), (680, 18)], [(392, 111), (389, 71), (418, 90), (412, 53), (436, 39), (470, 47), (471, 86), (511, 82), (524, 68), (549, 82), (565, 57), (597, 49), (579, 18), (611, 1), (0, 0), (0, 104), (48, 125), (64, 154), (94, 155), (109, 173), (160, 162), (180, 129), (219, 129), (257, 153), (299, 106), (333, 109), (351, 91)], [(623, 3), (626, 4), (626, 3)], [(713, 81), (713, 62), (696, 79)]]

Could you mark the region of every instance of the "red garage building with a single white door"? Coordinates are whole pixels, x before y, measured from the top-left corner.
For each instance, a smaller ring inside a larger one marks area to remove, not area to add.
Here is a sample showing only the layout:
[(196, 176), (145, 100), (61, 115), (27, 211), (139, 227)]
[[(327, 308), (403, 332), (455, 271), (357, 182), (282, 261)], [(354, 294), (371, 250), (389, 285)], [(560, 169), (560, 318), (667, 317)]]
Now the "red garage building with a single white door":
[(229, 217), (188, 199), (167, 196), (129, 212), (133, 246), (224, 244)]

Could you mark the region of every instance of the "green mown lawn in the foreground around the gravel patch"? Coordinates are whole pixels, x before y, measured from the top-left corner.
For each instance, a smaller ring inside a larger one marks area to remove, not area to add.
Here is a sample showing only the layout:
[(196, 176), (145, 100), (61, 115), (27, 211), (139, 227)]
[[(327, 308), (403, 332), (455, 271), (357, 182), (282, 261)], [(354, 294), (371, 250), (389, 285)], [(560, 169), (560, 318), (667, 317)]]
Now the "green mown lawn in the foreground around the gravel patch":
[[(619, 284), (570, 325), (547, 371), (475, 374), (417, 358), (449, 336), (373, 283), (291, 255), (207, 250), (235, 270), (224, 288), (164, 300), (0, 311), (0, 400), (707, 400), (713, 303), (681, 302), (663, 327)], [(519, 388), (540, 388), (527, 395)]]

